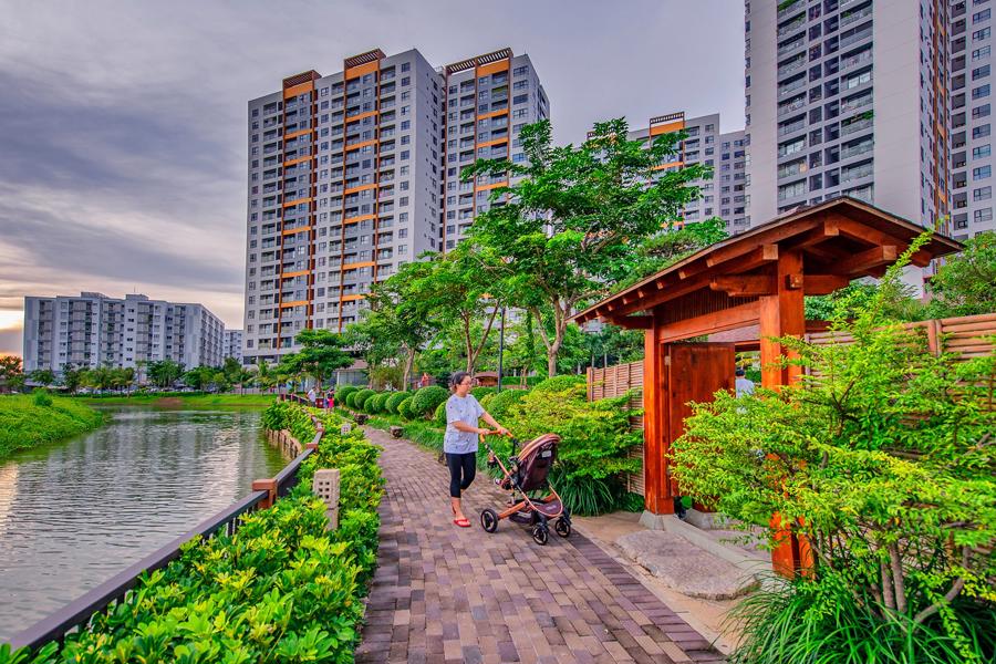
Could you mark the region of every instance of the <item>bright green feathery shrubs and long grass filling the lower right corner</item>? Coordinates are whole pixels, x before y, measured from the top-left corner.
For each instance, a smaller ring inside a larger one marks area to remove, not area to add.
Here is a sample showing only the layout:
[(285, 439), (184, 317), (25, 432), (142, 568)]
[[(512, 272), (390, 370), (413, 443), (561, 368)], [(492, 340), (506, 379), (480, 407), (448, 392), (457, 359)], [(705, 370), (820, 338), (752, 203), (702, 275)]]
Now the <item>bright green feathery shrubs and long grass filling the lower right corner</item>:
[(899, 277), (840, 303), (851, 343), (781, 340), (800, 384), (717, 393), (674, 445), (684, 492), (810, 552), (741, 605), (737, 662), (996, 660), (996, 359), (884, 315)]

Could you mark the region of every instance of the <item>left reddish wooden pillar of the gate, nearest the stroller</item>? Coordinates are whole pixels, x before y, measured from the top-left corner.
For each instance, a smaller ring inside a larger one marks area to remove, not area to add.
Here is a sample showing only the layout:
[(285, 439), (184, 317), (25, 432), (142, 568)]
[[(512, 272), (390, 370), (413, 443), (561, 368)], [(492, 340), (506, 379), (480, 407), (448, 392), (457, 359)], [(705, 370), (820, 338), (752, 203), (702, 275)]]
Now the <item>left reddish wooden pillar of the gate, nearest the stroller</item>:
[(667, 466), (664, 461), (663, 361), (657, 326), (644, 332), (643, 342), (643, 499), (654, 515), (674, 513)]

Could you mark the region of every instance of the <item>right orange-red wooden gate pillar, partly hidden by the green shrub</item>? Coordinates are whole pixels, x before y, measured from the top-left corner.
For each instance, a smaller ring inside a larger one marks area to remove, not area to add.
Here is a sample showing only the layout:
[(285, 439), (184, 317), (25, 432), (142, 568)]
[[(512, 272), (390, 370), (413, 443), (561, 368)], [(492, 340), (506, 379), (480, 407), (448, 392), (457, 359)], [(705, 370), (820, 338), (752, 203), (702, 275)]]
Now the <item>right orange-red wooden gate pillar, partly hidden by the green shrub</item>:
[[(802, 297), (802, 253), (784, 251), (778, 257), (775, 293), (760, 298), (760, 361), (761, 386), (778, 390), (790, 385), (802, 374), (800, 366), (780, 366), (782, 355), (797, 354), (784, 349), (772, 338), (806, 334), (806, 314)], [(781, 517), (771, 516), (771, 527), (779, 528)], [(787, 530), (779, 533), (781, 542), (771, 550), (771, 564), (784, 575), (792, 575), (803, 569), (809, 558), (808, 547)]]

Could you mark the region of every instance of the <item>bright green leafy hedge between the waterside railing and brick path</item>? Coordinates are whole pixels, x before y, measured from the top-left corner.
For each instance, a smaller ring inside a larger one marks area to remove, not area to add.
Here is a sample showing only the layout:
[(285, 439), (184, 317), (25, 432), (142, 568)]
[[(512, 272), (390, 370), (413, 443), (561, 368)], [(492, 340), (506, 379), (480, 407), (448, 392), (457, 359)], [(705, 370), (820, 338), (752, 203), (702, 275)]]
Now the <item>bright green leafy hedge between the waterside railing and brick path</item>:
[[(360, 429), (343, 436), (338, 415), (320, 417), (325, 436), (318, 453), (272, 508), (246, 515), (235, 536), (188, 542), (179, 559), (144, 575), (123, 602), (64, 644), (50, 643), (30, 658), (0, 649), (0, 661), (352, 662), (361, 599), (376, 563), (380, 448)], [(304, 408), (289, 402), (270, 406), (263, 422), (299, 439), (314, 435)], [(318, 468), (341, 471), (335, 531), (325, 530), (325, 506), (311, 495)]]

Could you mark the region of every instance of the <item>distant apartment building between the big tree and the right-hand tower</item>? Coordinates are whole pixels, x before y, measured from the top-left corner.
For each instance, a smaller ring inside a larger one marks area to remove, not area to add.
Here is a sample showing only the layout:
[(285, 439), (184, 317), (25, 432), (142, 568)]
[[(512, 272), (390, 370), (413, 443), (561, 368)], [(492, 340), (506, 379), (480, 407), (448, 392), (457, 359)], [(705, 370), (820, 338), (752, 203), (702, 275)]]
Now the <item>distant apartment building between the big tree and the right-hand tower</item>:
[(713, 169), (710, 179), (693, 183), (699, 188), (701, 196), (685, 206), (683, 220), (694, 222), (720, 217), (726, 224), (727, 232), (733, 235), (747, 230), (750, 218), (744, 190), (744, 132), (720, 134), (718, 113), (688, 118), (683, 112), (677, 112), (652, 117), (645, 128), (631, 131), (627, 137), (650, 144), (657, 136), (672, 132), (685, 132), (687, 137), (674, 155), (674, 160), (661, 164), (657, 167), (660, 170), (696, 164)]

